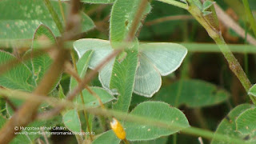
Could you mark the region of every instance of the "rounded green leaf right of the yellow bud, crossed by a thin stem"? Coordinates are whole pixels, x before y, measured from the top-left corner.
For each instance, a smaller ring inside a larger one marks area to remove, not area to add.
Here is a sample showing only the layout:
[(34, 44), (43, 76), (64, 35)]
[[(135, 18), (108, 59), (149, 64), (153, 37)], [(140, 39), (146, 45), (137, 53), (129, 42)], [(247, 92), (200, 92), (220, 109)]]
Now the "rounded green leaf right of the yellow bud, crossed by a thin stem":
[[(136, 116), (141, 116), (158, 122), (170, 122), (183, 128), (189, 127), (189, 122), (185, 114), (177, 108), (171, 107), (164, 102), (142, 102), (130, 112)], [(148, 141), (162, 136), (177, 133), (182, 129), (165, 129), (158, 126), (136, 124), (125, 122), (126, 138), (130, 141)]]

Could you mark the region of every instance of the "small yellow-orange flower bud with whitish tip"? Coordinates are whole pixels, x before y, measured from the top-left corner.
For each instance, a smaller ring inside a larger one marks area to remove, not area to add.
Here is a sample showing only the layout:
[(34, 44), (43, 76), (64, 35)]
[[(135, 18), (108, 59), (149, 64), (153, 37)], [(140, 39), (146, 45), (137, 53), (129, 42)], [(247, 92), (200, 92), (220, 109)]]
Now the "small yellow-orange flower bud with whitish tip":
[(126, 131), (122, 128), (122, 125), (116, 118), (113, 118), (110, 122), (111, 129), (114, 131), (114, 134), (119, 138), (124, 140), (126, 138)]

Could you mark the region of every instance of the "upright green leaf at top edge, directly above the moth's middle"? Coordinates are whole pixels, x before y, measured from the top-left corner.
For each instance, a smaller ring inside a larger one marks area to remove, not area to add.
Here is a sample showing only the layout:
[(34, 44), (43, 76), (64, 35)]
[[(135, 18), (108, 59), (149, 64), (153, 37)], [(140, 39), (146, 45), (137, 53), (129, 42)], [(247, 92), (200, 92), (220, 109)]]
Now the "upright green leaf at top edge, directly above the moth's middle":
[[(113, 48), (118, 47), (119, 42), (126, 38), (140, 2), (140, 0), (117, 0), (114, 2), (110, 16), (110, 42)], [(142, 18), (150, 13), (150, 9), (148, 3)]]

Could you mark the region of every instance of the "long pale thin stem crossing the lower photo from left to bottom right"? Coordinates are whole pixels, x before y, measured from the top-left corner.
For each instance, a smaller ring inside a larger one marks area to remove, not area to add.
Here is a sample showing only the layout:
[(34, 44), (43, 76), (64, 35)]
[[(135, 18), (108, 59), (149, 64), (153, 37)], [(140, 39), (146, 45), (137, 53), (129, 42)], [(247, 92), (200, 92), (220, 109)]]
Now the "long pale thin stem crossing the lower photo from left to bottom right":
[[(150, 126), (158, 126), (169, 130), (177, 130), (182, 129), (182, 134), (190, 134), (194, 136), (200, 136), (202, 138), (216, 138), (217, 140), (223, 141), (223, 142), (231, 142), (231, 143), (245, 143), (239, 138), (230, 138), (229, 136), (226, 136), (225, 134), (218, 134), (211, 132), (209, 130), (203, 130), (199, 129), (193, 126), (190, 126), (186, 129), (184, 129), (184, 126), (179, 125), (178, 123), (174, 122), (159, 122), (158, 120), (154, 120), (152, 118), (145, 118), (142, 116), (134, 115), (134, 114), (126, 114), (124, 112), (115, 111), (115, 110), (106, 110), (102, 108), (91, 108), (88, 106), (84, 106), (82, 104), (70, 102), (65, 99), (56, 99), (51, 97), (45, 97), (43, 95), (38, 94), (30, 94), (27, 92), (23, 92), (20, 90), (5, 90), (0, 88), (0, 96), (6, 95), (10, 98), (18, 98), (23, 100), (30, 99), (31, 102), (47, 102), (51, 106), (66, 106), (66, 107), (72, 107), (77, 109), (86, 109), (90, 114), (94, 115), (102, 115), (105, 117), (115, 117), (121, 120), (125, 120), (126, 122), (136, 122), (143, 125), (150, 125)], [(42, 117), (41, 120), (49, 119), (49, 117)]]

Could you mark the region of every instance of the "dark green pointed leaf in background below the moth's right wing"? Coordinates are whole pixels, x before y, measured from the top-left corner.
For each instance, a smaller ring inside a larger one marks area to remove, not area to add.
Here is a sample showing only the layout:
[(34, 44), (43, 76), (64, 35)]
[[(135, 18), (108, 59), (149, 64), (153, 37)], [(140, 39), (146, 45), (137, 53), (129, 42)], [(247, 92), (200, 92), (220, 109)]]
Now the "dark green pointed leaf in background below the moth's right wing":
[(162, 87), (154, 100), (169, 103), (171, 106), (186, 105), (191, 108), (213, 106), (225, 102), (229, 94), (218, 90), (217, 86), (201, 80), (179, 80), (170, 86)]

